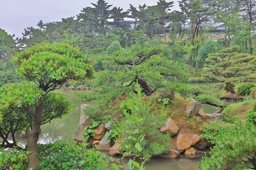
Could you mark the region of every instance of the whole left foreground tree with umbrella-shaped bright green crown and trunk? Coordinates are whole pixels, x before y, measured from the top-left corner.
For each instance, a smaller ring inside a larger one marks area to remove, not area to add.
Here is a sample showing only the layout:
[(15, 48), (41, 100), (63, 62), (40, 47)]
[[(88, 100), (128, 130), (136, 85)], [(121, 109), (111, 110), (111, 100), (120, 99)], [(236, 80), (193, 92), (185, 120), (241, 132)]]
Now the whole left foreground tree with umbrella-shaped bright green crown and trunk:
[[(29, 168), (38, 169), (39, 166), (37, 141), (43, 120), (45, 96), (50, 91), (60, 88), (69, 79), (79, 80), (92, 76), (93, 66), (90, 59), (81, 54), (73, 43), (71, 44), (68, 40), (66, 43), (53, 44), (41, 42), (12, 58), (17, 66), (17, 72), (27, 81), (35, 83), (35, 90), (42, 93), (36, 99), (32, 98), (35, 100), (35, 109), (26, 112), (32, 115), (29, 125), (31, 130), (26, 129), (28, 150), (32, 152), (29, 154)], [(25, 97), (24, 99), (31, 100)], [(7, 107), (12, 105), (19, 107), (18, 103), (11, 103)]]

